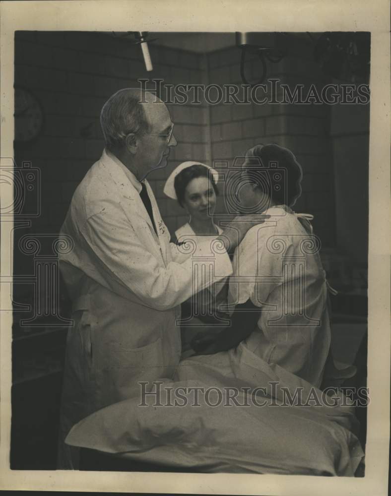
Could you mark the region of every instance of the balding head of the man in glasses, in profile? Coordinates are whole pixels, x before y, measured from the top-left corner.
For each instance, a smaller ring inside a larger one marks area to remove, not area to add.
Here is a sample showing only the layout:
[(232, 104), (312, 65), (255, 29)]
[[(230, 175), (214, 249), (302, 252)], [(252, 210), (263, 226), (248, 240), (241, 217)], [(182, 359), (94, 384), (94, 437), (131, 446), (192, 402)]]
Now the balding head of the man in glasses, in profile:
[(152, 170), (165, 167), (170, 148), (177, 145), (166, 105), (147, 91), (117, 91), (104, 104), (100, 123), (106, 150), (139, 181)]

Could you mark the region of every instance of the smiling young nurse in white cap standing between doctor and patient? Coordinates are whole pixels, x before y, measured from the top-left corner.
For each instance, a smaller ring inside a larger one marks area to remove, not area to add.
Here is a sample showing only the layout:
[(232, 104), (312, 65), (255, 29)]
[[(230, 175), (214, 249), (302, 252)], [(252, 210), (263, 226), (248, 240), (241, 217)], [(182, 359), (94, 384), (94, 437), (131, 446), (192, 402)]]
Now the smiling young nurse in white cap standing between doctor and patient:
[[(176, 167), (164, 186), (164, 193), (189, 214), (189, 221), (175, 231), (177, 244), (186, 240), (199, 243), (205, 240), (212, 241), (223, 230), (213, 222), (216, 206), (218, 172), (200, 162), (183, 162)], [(220, 292), (220, 298), (223, 292)], [(213, 332), (221, 327), (216, 319), (217, 305), (208, 290), (196, 293), (181, 306), (181, 339), (182, 358), (193, 354), (190, 343), (202, 326), (203, 332)]]

